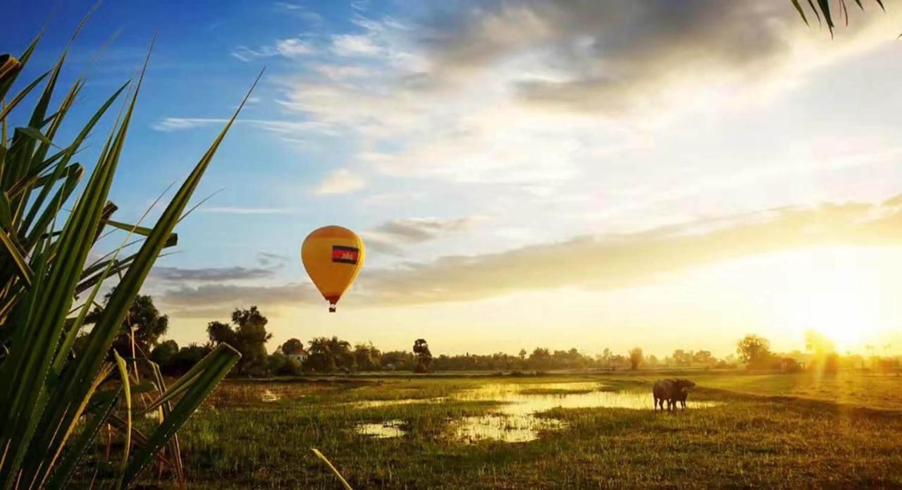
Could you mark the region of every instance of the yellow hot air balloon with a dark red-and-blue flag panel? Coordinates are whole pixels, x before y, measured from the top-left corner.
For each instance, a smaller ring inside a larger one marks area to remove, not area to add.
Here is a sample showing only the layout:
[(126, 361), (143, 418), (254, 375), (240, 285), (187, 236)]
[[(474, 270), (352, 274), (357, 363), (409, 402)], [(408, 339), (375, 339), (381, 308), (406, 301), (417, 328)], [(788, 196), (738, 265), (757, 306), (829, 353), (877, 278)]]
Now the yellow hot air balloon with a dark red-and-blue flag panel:
[(329, 302), (329, 311), (335, 312), (336, 303), (364, 265), (364, 241), (347, 228), (321, 227), (304, 239), (300, 260)]

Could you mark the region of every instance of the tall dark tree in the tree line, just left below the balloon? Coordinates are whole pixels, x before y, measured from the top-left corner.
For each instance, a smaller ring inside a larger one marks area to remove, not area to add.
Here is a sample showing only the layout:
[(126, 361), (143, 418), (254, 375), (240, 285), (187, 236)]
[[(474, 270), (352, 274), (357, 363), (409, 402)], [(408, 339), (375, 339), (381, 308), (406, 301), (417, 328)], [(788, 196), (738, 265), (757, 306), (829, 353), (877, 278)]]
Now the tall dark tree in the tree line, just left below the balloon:
[(272, 334), (266, 331), (269, 319), (256, 306), (249, 310), (235, 309), (232, 325), (211, 321), (207, 325), (207, 335), (214, 345), (226, 343), (241, 353), (241, 360), (235, 365), (238, 374), (262, 375), (266, 373), (266, 342)]

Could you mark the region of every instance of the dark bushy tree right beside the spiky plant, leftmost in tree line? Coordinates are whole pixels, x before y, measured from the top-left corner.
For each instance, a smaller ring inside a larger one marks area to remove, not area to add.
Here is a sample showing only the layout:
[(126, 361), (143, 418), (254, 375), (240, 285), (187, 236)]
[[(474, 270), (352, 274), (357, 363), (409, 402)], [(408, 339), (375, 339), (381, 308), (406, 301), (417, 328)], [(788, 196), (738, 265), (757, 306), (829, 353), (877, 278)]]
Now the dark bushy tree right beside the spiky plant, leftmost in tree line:
[[(109, 291), (104, 296), (104, 307), (112, 296)], [(87, 323), (94, 323), (100, 318), (103, 308), (95, 307), (87, 317)], [(160, 337), (166, 335), (169, 330), (169, 317), (161, 315), (160, 310), (153, 304), (153, 298), (146, 294), (139, 294), (134, 298), (132, 306), (122, 320), (122, 333), (116, 337), (113, 347), (120, 356), (132, 357), (132, 337), (134, 338), (134, 354), (143, 352), (150, 355), (153, 347), (156, 347)]]

